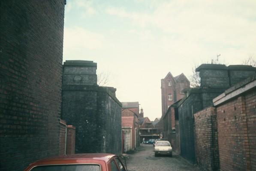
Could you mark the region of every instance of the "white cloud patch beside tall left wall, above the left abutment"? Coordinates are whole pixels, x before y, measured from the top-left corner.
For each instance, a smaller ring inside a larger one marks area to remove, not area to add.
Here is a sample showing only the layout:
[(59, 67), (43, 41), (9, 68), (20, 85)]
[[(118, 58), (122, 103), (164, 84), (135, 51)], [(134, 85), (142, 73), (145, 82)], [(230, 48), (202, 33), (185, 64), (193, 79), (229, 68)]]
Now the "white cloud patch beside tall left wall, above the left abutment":
[(64, 28), (64, 51), (74, 49), (100, 49), (105, 38), (82, 27)]

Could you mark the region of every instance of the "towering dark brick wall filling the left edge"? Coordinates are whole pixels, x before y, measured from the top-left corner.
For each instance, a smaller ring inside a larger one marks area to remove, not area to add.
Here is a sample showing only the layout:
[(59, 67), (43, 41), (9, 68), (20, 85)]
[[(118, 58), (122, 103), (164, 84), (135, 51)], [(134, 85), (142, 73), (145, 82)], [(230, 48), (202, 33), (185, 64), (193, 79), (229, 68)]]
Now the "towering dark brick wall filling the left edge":
[(0, 170), (59, 153), (64, 0), (0, 1)]

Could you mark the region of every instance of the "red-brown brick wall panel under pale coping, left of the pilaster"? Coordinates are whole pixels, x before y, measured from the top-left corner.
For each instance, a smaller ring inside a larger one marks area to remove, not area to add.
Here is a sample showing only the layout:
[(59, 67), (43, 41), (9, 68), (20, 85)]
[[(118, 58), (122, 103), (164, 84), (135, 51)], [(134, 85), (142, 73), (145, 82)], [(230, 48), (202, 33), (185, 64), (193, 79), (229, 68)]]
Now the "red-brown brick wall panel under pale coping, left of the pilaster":
[(245, 101), (248, 105), (250, 104), (250, 100), (240, 96), (217, 107), (220, 170), (222, 171), (250, 170)]

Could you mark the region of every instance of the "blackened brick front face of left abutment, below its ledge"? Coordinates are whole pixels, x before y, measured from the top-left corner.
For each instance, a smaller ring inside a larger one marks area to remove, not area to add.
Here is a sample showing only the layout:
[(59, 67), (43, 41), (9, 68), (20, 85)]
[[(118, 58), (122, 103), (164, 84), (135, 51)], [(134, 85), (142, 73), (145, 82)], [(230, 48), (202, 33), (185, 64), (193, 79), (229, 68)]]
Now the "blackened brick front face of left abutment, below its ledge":
[(100, 116), (97, 115), (97, 91), (96, 87), (91, 91), (62, 90), (62, 119), (68, 124), (74, 125), (75, 153), (89, 153), (101, 151), (99, 146)]

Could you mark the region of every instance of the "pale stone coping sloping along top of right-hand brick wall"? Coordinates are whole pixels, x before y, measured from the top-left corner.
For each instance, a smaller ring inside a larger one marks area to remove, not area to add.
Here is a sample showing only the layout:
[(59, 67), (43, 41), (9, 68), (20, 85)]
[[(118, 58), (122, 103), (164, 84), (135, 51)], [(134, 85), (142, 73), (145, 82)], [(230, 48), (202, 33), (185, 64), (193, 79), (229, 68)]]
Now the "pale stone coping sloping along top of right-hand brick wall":
[(249, 91), (252, 88), (256, 88), (256, 74), (251, 77), (248, 77), (244, 81), (235, 84), (231, 88), (224, 91), (219, 96), (213, 99), (214, 106), (218, 106), (227, 100), (237, 97), (240, 94), (244, 93), (245, 91)]

